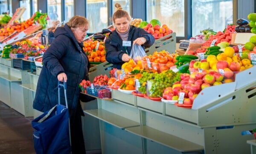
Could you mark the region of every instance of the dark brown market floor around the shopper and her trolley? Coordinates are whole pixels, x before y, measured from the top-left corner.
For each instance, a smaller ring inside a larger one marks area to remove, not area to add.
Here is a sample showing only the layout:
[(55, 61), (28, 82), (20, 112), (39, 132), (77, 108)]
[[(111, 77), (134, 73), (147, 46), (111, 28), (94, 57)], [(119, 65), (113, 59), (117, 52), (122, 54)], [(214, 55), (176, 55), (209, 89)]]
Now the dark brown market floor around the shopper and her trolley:
[[(0, 102), (0, 154), (35, 154), (31, 118)], [(87, 151), (101, 154), (101, 151)]]

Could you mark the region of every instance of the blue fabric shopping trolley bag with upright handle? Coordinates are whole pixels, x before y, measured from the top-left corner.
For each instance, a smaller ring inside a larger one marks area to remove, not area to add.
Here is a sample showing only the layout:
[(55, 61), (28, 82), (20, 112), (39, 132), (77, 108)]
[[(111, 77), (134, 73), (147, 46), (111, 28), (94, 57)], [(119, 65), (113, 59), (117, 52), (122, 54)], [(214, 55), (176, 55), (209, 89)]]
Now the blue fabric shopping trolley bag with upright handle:
[[(64, 87), (66, 106), (60, 104), (60, 88)], [(70, 154), (70, 122), (67, 105), (67, 83), (58, 83), (58, 105), (32, 121), (34, 148), (37, 154)]]

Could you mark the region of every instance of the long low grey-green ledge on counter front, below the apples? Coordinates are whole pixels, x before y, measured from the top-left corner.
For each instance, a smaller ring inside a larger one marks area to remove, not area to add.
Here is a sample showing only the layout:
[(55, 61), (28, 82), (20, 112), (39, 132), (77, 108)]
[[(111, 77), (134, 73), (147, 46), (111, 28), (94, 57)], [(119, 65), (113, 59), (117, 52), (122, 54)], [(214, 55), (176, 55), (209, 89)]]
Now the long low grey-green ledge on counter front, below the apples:
[(133, 134), (139, 135), (143, 138), (150, 139), (154, 142), (163, 144), (169, 148), (173, 148), (180, 152), (194, 152), (203, 151), (204, 147), (193, 142), (189, 142), (185, 139), (181, 139), (171, 134), (159, 131), (157, 129), (148, 126), (137, 126), (131, 128), (125, 128)]

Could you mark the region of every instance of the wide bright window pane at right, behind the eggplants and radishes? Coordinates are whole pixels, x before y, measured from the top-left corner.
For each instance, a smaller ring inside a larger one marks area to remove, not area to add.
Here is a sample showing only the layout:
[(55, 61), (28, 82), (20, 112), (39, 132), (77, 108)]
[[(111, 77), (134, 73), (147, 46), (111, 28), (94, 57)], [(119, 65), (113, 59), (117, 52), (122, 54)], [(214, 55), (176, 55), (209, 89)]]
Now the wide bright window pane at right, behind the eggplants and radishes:
[(211, 28), (222, 31), (233, 23), (233, 0), (192, 0), (192, 35)]

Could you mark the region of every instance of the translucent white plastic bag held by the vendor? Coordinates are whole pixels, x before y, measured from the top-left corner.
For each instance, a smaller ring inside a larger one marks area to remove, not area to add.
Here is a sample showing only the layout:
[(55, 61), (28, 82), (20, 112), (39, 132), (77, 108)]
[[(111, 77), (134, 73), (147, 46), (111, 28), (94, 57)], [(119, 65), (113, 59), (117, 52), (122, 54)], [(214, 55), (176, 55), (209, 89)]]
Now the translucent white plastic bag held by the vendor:
[(131, 48), (130, 57), (135, 61), (137, 64), (138, 61), (142, 61), (143, 57), (146, 56), (146, 52), (142, 46), (138, 44), (134, 44)]

